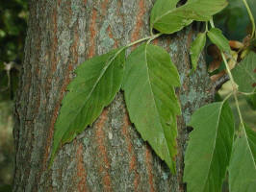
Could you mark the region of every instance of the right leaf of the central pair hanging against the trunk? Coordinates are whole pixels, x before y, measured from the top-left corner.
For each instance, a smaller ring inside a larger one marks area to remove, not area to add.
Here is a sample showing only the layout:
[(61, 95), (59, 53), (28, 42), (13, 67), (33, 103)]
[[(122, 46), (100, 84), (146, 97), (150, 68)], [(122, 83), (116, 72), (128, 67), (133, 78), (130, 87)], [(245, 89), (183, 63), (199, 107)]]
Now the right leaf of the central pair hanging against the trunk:
[(142, 44), (128, 57), (123, 89), (131, 122), (173, 173), (181, 114), (174, 86), (179, 85), (178, 71), (162, 48)]

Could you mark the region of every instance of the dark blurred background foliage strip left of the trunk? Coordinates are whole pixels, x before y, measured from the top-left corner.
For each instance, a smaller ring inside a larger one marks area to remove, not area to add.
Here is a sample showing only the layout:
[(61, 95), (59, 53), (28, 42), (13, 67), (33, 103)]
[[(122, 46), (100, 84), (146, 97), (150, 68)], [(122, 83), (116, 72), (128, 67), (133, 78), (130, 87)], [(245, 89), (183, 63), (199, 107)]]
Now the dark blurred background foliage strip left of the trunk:
[(12, 191), (13, 98), (23, 60), (27, 0), (0, 0), (0, 191)]

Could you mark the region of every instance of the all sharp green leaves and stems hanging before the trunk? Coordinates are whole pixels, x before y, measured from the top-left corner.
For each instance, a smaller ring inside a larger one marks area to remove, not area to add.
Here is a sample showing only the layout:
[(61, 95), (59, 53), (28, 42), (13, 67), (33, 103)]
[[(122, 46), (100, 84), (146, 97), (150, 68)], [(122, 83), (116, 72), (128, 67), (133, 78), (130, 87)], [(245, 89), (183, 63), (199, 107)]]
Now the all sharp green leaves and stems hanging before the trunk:
[[(255, 94), (253, 14), (243, 0), (252, 27), (250, 36), (246, 36), (243, 43), (234, 42), (228, 41), (212, 19), (227, 5), (226, 0), (188, 0), (180, 7), (177, 7), (177, 3), (178, 0), (156, 2), (150, 16), (151, 36), (87, 60), (76, 69), (77, 76), (68, 85), (55, 124), (50, 163), (62, 145), (95, 121), (103, 108), (114, 100), (122, 84), (131, 121), (141, 137), (175, 174), (176, 118), (181, 114), (181, 109), (174, 88), (180, 85), (179, 75), (166, 51), (152, 45), (151, 41), (163, 34), (175, 33), (194, 20), (204, 21), (205, 32), (192, 42), (192, 70), (196, 70), (196, 62), (207, 35), (215, 44), (215, 54), (224, 63), (222, 72), (228, 75), (232, 89), (223, 101), (199, 108), (192, 114), (190, 126), (193, 131), (185, 156), (184, 181), (189, 192), (220, 191), (228, 170), (231, 191), (253, 191), (256, 182), (256, 132), (245, 125), (238, 103), (238, 94)], [(153, 29), (158, 30), (159, 34), (154, 35)], [(145, 40), (146, 43), (135, 49), (125, 61), (125, 50)], [(235, 130), (233, 113), (228, 104), (231, 95), (240, 117), (241, 127), (238, 131)], [(243, 156), (242, 160), (240, 156)]]

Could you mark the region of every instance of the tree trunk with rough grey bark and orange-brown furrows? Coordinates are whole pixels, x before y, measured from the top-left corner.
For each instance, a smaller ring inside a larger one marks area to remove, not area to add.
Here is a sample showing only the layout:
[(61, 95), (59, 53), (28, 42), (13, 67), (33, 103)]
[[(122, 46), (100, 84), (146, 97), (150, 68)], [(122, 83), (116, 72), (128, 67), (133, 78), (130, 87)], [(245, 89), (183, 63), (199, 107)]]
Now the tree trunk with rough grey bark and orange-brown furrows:
[(178, 120), (177, 175), (152, 152), (129, 122), (118, 93), (92, 127), (64, 145), (48, 169), (54, 124), (73, 77), (84, 60), (148, 36), (152, 0), (31, 0), (25, 60), (17, 94), (13, 191), (185, 191), (186, 123), (210, 102), (213, 90), (203, 58), (191, 70), (192, 27), (154, 43), (176, 63), (183, 114)]

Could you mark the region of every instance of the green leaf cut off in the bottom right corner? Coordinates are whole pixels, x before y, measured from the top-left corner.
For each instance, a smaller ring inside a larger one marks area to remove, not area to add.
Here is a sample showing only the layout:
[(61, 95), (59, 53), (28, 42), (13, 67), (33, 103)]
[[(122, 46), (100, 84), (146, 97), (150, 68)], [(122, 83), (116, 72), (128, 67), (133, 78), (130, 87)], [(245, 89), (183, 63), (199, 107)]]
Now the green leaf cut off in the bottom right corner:
[(230, 159), (231, 192), (254, 192), (256, 189), (256, 132), (244, 126), (245, 132), (237, 137)]

